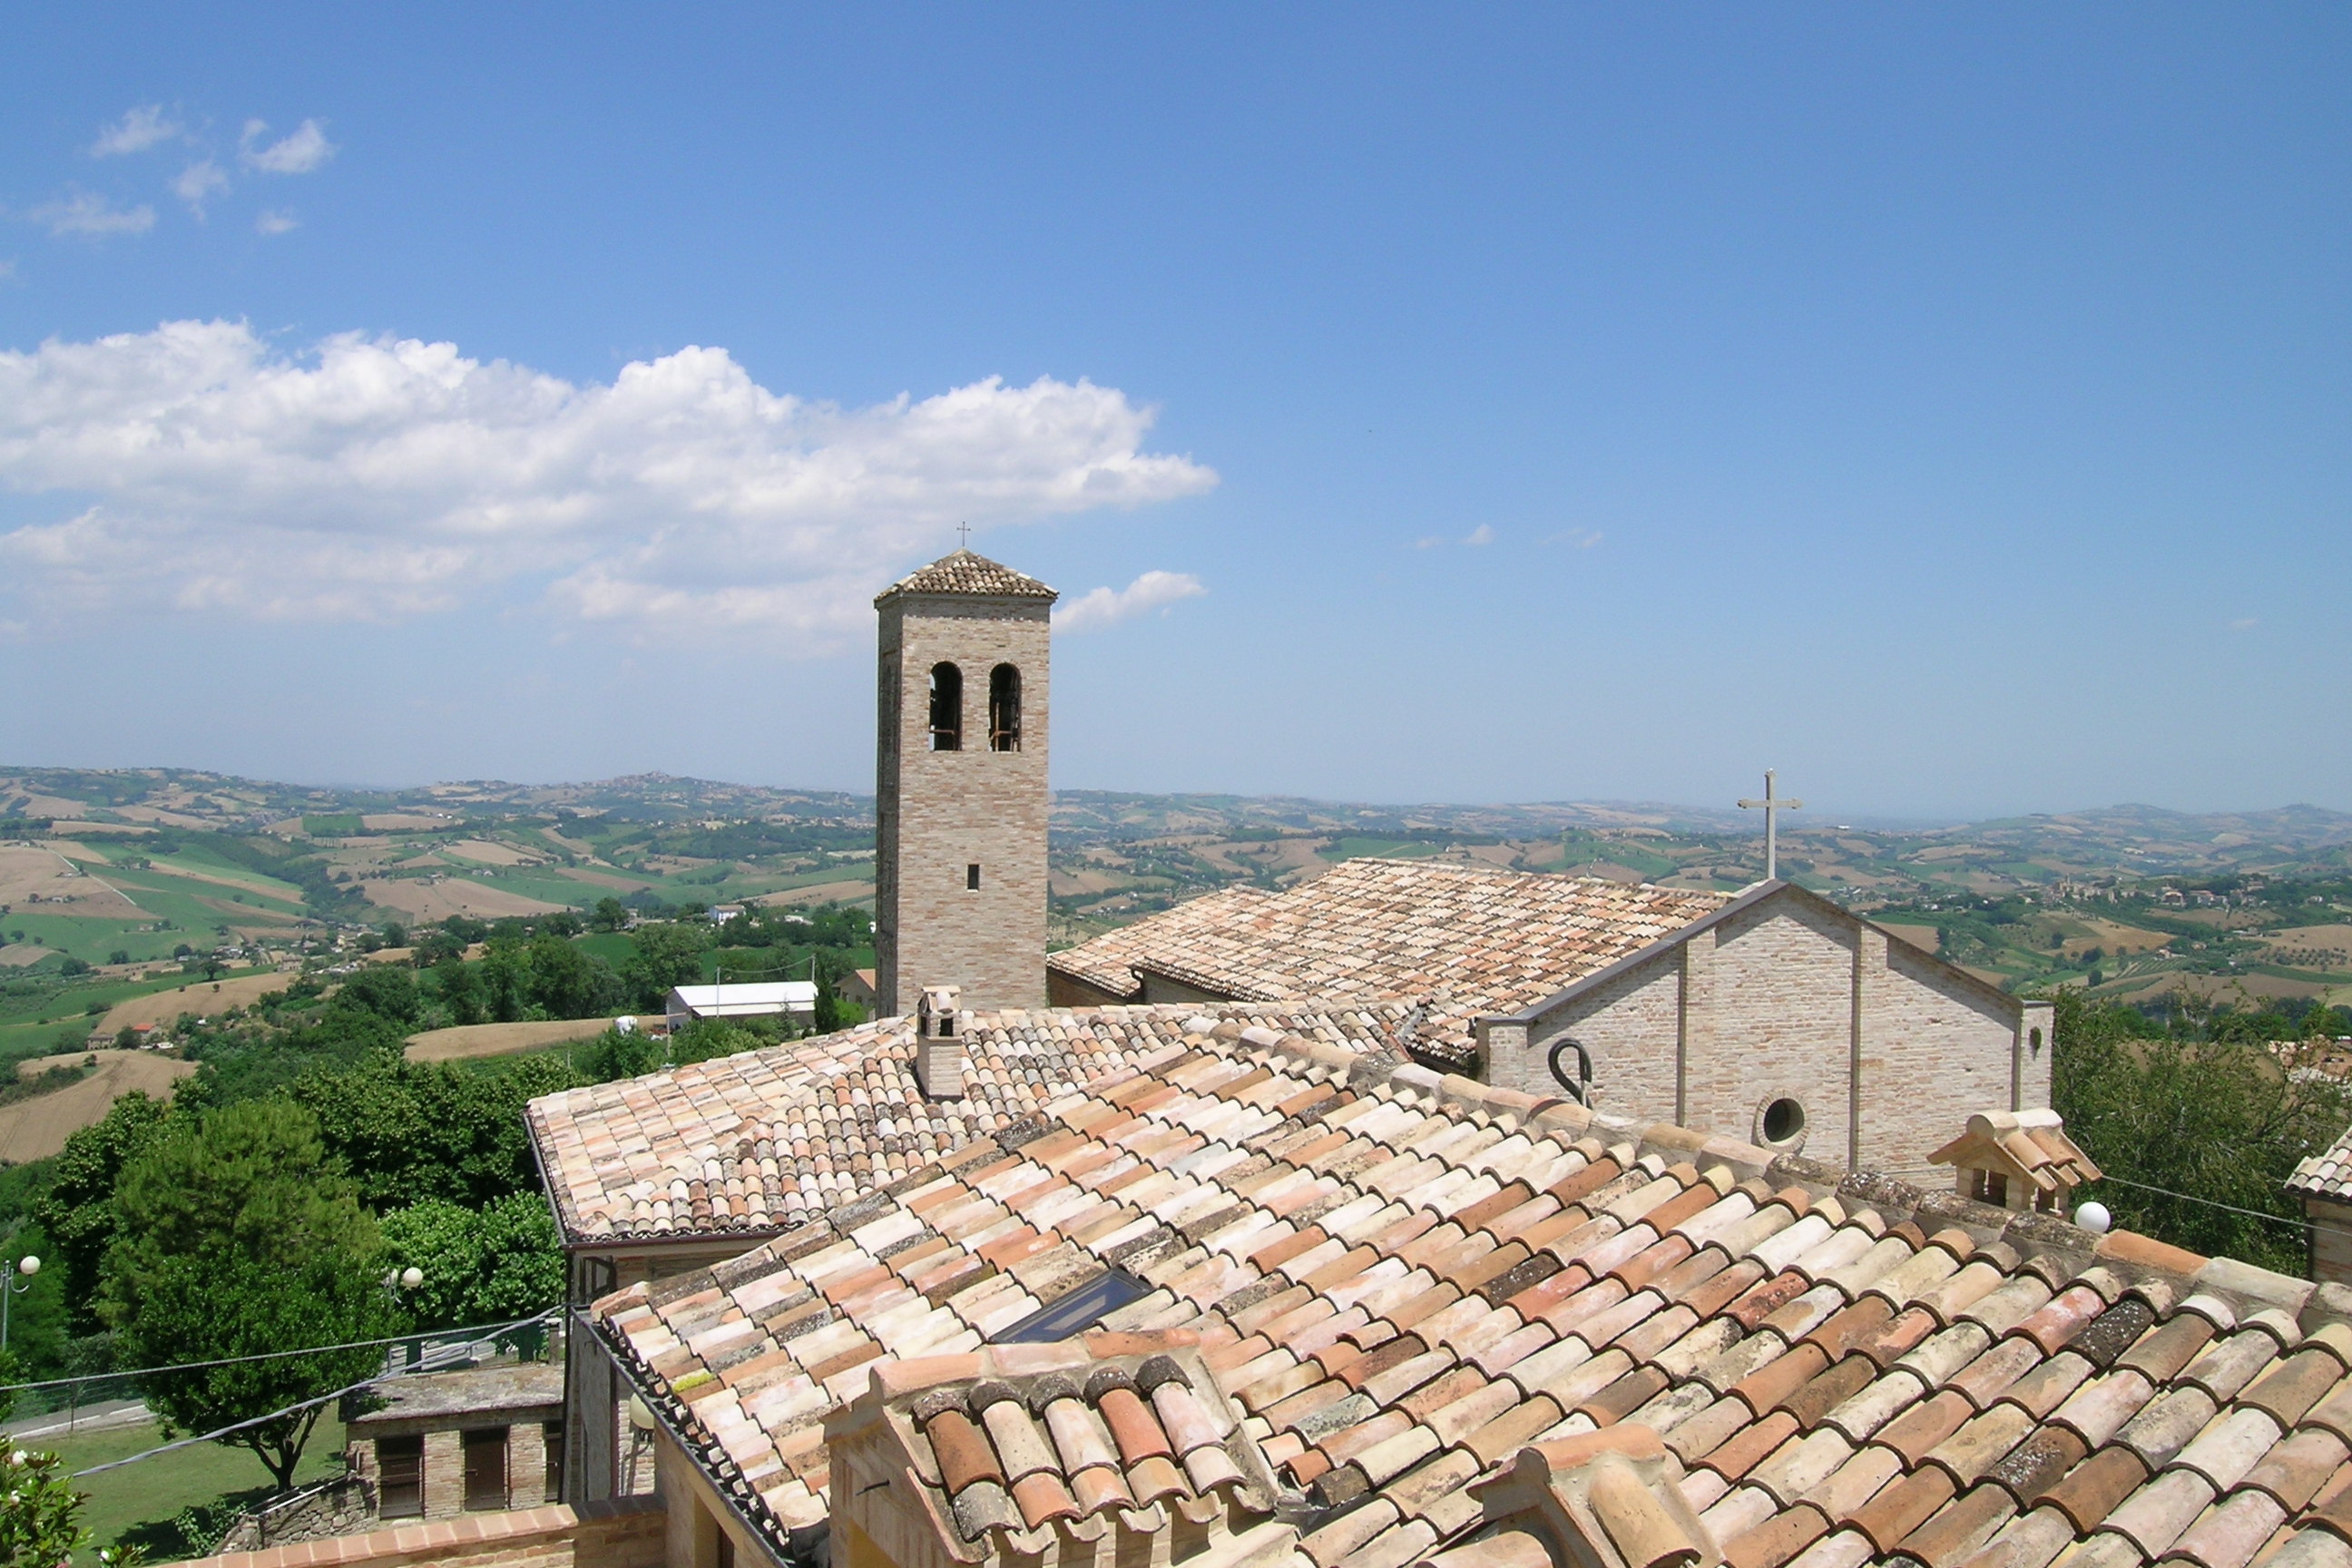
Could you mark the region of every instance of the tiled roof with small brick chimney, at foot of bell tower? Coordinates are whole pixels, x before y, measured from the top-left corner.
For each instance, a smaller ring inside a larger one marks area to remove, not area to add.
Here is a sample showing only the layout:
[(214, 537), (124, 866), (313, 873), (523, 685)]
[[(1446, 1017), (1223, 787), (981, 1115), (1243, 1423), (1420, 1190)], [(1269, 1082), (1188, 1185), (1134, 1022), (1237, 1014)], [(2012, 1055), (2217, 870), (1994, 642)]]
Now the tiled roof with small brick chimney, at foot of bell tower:
[[(532, 1100), (524, 1121), (572, 1241), (741, 1234), (884, 1187), (1183, 1039), (1202, 1009), (964, 1013), (964, 1098), (915, 1084), (915, 1018)], [(1240, 1027), (1392, 1048), (1404, 1006), (1218, 1006)], [(1272, 1034), (1268, 1034), (1272, 1039)]]

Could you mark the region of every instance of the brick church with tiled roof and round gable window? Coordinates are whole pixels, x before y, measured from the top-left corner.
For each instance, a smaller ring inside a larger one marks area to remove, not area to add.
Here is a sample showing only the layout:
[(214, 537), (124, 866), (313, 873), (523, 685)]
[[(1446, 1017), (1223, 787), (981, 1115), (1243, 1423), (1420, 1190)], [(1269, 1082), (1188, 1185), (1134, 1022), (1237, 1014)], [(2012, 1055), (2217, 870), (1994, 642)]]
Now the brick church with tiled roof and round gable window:
[(1063, 1006), (1399, 999), (1414, 1058), (1884, 1173), (2049, 1105), (2046, 1001), (1788, 882), (1743, 893), (1430, 860), (1225, 889), (1047, 959)]

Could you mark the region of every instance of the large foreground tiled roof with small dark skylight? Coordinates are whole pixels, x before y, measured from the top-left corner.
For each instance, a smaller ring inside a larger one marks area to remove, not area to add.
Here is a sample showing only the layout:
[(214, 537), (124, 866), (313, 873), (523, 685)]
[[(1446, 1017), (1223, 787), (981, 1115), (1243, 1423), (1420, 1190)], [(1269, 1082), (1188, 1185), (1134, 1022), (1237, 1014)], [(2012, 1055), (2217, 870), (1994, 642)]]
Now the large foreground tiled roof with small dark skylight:
[(2352, 1563), (2338, 1286), (1207, 1023), (607, 1298), (607, 1340), (779, 1540), (884, 1356), (1117, 1265), (1152, 1293), (1103, 1326), (1200, 1335), (1303, 1493), (1298, 1568), (1550, 1568), (1472, 1483), (1621, 1422), (1731, 1568)]

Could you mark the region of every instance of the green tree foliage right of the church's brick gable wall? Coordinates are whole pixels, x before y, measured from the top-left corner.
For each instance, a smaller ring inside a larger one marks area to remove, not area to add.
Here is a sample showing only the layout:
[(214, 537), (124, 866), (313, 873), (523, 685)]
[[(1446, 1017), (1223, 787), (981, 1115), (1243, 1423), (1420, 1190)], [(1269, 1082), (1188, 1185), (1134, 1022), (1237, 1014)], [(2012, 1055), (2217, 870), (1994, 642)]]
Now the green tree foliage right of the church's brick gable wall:
[(2112, 1178), (2096, 1197), (2117, 1225), (2300, 1274), (2303, 1215), (2284, 1182), (2343, 1133), (2352, 1093), (2303, 1072), (2293, 1044), (2166, 1032), (2079, 990), (2051, 1001), (2051, 1105)]

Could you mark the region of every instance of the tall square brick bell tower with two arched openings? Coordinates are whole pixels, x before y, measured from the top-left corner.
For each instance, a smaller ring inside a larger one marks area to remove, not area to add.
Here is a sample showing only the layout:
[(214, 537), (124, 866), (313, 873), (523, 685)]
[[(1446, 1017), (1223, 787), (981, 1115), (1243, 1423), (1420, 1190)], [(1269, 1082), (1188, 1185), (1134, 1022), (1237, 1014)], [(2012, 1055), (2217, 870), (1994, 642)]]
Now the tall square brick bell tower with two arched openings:
[(1044, 1006), (1047, 644), (1058, 595), (957, 550), (880, 628), (875, 1001)]

